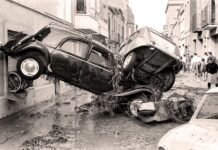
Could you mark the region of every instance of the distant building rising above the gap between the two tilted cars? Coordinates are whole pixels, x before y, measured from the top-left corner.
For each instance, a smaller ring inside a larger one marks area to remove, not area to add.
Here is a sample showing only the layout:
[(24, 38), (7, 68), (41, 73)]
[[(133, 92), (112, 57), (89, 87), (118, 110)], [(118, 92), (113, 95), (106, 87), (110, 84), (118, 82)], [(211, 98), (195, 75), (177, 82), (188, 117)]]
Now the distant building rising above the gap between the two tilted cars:
[(136, 31), (134, 14), (128, 0), (108, 1), (108, 45), (117, 52), (120, 44)]

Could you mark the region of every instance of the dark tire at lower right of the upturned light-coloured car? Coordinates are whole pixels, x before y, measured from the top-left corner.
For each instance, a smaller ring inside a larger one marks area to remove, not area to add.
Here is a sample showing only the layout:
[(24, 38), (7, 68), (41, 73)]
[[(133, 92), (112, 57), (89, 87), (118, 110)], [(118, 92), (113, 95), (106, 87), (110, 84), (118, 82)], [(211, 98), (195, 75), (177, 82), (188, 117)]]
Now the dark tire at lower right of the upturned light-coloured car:
[(162, 75), (162, 79), (164, 80), (161, 89), (164, 92), (167, 92), (173, 87), (175, 83), (175, 79), (176, 79), (175, 73), (172, 70), (167, 70), (161, 73), (161, 75)]

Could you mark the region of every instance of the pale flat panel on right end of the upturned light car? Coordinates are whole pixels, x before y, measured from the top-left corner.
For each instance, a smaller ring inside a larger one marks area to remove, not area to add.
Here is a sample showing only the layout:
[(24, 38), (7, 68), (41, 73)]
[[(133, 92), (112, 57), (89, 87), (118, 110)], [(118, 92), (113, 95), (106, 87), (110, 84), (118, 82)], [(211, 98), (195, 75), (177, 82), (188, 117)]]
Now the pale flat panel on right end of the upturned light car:
[(176, 51), (176, 45), (167, 40), (163, 35), (157, 33), (152, 29), (149, 29), (149, 35), (150, 40), (154, 45), (160, 47), (161, 49), (164, 49), (167, 53), (179, 55), (179, 53)]

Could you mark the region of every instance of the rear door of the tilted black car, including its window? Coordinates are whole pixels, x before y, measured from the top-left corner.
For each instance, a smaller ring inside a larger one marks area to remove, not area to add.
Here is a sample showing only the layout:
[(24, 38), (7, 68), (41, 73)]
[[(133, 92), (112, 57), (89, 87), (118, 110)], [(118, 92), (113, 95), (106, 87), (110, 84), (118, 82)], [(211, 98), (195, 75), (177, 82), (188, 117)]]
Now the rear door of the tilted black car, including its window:
[(81, 86), (100, 94), (112, 90), (113, 55), (92, 47), (80, 76)]

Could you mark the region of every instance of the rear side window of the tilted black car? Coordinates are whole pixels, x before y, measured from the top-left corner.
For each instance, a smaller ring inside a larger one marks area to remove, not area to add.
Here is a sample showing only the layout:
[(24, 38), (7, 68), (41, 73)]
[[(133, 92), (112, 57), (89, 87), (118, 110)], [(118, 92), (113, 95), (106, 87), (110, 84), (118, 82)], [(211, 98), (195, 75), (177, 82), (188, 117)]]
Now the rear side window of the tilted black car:
[(113, 58), (108, 53), (102, 53), (96, 48), (92, 48), (88, 61), (106, 68), (112, 68)]

